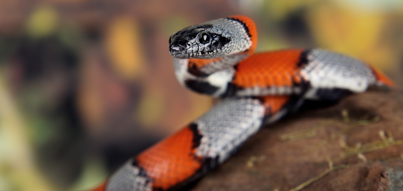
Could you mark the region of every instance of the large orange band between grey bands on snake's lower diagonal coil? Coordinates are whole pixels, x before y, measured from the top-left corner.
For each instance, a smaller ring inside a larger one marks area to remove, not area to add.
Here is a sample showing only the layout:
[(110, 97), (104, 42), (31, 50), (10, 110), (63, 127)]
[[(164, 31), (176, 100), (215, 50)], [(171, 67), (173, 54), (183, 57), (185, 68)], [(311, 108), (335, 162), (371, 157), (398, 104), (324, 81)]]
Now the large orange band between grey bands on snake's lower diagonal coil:
[(136, 158), (154, 180), (155, 188), (168, 189), (191, 177), (201, 167), (200, 159), (195, 157), (196, 148), (192, 148), (193, 136), (190, 128), (184, 128)]

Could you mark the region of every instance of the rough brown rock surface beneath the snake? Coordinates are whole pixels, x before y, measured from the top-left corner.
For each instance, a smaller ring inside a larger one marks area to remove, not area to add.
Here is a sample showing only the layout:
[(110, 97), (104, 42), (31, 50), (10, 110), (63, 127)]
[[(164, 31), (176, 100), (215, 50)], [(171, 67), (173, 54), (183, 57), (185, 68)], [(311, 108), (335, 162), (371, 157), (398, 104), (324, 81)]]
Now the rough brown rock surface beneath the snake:
[(193, 190), (403, 190), (403, 92), (370, 91), (289, 115)]

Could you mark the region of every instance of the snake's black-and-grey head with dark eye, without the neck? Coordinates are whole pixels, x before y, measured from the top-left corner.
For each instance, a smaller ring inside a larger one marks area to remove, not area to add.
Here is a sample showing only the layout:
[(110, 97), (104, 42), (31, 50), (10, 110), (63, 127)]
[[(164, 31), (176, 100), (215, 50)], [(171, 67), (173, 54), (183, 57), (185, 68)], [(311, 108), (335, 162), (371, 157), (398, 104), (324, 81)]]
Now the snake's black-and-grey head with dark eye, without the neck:
[(231, 33), (210, 22), (184, 28), (174, 33), (169, 41), (170, 53), (175, 58), (215, 58), (224, 55)]

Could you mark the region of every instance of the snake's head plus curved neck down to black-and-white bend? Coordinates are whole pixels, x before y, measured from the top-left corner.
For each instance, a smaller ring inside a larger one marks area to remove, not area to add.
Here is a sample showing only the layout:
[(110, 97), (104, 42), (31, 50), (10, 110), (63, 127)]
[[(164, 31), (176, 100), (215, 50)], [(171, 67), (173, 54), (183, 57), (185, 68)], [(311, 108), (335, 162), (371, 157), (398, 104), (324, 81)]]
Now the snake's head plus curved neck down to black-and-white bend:
[(198, 93), (221, 96), (236, 65), (252, 55), (256, 45), (257, 31), (252, 19), (231, 16), (174, 33), (170, 53), (181, 85)]

